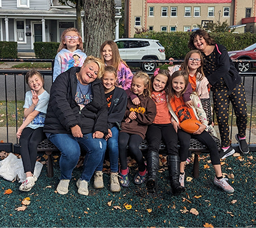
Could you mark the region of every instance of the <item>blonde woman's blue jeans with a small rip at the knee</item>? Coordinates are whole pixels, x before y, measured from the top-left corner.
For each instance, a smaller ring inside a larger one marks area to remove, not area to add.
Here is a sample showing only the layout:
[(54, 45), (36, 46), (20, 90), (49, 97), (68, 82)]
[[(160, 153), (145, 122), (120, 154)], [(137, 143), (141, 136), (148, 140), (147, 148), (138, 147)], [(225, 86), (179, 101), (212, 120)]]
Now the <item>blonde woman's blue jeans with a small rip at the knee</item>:
[(80, 151), (83, 150), (87, 153), (83, 162), (81, 179), (90, 182), (90, 178), (106, 151), (106, 140), (92, 138), (92, 133), (83, 135), (83, 138), (76, 138), (70, 134), (51, 134), (49, 140), (61, 152), (60, 180), (71, 180), (72, 172), (80, 157)]

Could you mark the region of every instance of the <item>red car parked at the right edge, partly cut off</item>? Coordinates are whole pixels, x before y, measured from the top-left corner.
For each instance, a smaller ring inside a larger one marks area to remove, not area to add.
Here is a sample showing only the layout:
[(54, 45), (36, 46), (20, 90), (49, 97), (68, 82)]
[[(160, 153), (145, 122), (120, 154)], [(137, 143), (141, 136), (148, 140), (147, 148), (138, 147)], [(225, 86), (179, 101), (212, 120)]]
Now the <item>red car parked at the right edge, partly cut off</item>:
[[(244, 50), (229, 51), (229, 57), (232, 60), (256, 60), (256, 43), (248, 46)], [(256, 62), (234, 62), (236, 69), (240, 72), (247, 72)]]

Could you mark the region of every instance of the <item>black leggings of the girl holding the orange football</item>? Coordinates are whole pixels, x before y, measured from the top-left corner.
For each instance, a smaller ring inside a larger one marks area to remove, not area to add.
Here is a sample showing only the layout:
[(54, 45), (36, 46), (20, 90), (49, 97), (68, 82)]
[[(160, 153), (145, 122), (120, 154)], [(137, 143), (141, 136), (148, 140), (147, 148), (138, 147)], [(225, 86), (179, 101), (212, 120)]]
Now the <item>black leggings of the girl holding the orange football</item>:
[(206, 145), (210, 151), (211, 164), (220, 164), (220, 155), (218, 154), (218, 146), (207, 131), (203, 131), (200, 135), (193, 135), (181, 129), (178, 129), (178, 138), (180, 141), (180, 159), (186, 161), (188, 157), (188, 149), (190, 138), (196, 138), (199, 142)]

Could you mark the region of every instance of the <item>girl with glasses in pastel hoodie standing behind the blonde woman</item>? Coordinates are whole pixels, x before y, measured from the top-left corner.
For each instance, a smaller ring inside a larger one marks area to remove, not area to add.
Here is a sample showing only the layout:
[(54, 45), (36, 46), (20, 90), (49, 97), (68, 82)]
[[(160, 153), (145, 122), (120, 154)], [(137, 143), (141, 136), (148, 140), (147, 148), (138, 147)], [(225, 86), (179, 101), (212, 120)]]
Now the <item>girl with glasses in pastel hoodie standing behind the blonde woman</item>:
[(53, 67), (53, 81), (62, 72), (71, 67), (82, 67), (87, 55), (83, 52), (82, 36), (75, 28), (69, 28), (62, 32), (61, 42)]

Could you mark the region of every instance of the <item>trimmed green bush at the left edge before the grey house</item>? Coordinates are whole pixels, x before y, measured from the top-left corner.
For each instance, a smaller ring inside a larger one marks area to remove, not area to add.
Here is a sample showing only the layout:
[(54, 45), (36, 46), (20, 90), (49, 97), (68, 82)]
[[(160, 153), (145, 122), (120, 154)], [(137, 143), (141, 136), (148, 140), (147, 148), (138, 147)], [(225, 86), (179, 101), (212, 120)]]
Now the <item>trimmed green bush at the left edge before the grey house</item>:
[(0, 41), (0, 58), (18, 58), (17, 42)]

